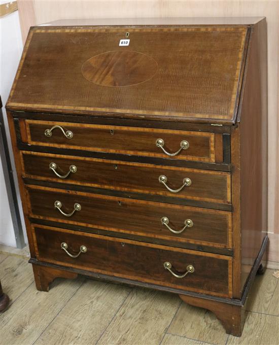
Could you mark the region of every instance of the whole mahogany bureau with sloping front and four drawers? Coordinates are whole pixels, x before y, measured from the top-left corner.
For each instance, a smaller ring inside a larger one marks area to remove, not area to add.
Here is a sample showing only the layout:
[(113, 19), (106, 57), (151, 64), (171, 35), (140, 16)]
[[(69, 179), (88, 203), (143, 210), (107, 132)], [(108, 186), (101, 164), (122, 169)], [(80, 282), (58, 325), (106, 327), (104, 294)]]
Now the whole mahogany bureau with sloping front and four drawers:
[(177, 293), (241, 335), (264, 271), (265, 18), (31, 27), (7, 103), (38, 290)]

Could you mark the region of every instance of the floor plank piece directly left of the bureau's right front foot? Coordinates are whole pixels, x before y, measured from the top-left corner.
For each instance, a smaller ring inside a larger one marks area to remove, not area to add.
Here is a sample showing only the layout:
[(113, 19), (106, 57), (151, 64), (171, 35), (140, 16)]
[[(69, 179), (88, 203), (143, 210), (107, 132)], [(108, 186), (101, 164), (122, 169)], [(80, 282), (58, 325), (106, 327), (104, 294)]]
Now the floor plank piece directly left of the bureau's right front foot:
[(218, 345), (224, 345), (227, 340), (225, 329), (213, 313), (184, 302), (172, 320), (167, 333)]

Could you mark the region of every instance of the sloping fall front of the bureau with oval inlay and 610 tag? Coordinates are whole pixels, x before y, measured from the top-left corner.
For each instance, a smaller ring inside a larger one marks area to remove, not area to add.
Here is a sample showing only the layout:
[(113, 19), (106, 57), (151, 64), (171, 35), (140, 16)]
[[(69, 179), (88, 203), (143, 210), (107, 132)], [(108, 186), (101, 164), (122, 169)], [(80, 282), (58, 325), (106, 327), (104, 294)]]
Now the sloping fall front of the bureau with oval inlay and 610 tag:
[(249, 24), (177, 22), (32, 27), (8, 109), (234, 123)]

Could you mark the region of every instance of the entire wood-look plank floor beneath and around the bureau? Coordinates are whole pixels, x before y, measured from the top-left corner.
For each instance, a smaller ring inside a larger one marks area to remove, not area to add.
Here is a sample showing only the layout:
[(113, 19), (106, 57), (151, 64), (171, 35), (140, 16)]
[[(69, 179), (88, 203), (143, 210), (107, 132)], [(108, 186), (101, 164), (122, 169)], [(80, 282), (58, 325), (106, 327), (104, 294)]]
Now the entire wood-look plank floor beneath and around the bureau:
[(279, 344), (279, 285), (272, 270), (256, 277), (241, 338), (227, 335), (212, 313), (169, 293), (84, 278), (57, 279), (50, 292), (39, 292), (25, 254), (1, 254), (1, 281), (11, 298), (1, 315), (2, 345)]

